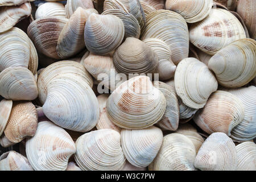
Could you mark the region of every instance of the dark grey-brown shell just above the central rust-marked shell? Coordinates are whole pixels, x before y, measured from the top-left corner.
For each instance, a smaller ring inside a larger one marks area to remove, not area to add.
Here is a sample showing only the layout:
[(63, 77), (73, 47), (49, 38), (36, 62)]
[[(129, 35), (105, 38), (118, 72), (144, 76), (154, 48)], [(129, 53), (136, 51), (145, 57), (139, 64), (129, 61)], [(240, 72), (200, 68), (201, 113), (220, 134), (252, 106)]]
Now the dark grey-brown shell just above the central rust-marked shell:
[(114, 66), (118, 72), (154, 73), (158, 67), (158, 57), (153, 49), (136, 38), (126, 38), (113, 56)]

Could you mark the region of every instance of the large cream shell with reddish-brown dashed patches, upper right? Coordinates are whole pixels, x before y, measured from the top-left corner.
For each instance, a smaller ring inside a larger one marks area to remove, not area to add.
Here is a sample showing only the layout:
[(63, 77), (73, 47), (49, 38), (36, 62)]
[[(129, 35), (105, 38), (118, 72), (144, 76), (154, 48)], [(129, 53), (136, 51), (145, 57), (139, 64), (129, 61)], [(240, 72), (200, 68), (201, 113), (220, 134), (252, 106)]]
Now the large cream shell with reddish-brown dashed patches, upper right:
[(189, 27), (190, 42), (209, 55), (244, 38), (245, 30), (236, 16), (220, 8), (212, 9), (207, 18)]

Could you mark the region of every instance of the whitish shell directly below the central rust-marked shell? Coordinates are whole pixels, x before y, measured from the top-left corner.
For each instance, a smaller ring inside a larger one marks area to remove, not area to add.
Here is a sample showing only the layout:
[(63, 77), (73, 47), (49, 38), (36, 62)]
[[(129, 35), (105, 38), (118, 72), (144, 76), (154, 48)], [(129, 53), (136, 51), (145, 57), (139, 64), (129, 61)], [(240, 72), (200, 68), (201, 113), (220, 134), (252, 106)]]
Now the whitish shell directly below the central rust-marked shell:
[(133, 166), (148, 166), (158, 154), (162, 142), (163, 133), (155, 126), (143, 130), (121, 131), (123, 154)]

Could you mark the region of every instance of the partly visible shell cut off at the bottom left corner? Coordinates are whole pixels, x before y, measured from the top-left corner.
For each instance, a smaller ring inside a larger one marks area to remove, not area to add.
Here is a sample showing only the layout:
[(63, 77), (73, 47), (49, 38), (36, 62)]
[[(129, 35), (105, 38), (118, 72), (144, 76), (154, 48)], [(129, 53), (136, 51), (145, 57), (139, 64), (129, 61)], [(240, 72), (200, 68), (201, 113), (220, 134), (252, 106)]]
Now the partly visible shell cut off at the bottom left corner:
[(27, 158), (16, 151), (0, 156), (0, 171), (34, 171)]

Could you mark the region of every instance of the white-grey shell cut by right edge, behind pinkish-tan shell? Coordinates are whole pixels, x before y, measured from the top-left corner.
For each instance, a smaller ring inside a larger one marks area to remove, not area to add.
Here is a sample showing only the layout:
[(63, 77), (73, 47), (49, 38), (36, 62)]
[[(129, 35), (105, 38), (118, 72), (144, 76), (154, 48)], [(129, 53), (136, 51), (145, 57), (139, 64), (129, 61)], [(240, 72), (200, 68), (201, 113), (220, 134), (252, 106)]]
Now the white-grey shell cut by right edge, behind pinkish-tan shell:
[(231, 138), (247, 141), (256, 137), (256, 87), (226, 90), (242, 101), (245, 106), (245, 116), (240, 124), (231, 131)]

